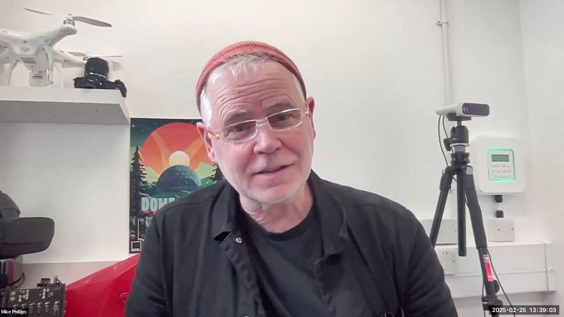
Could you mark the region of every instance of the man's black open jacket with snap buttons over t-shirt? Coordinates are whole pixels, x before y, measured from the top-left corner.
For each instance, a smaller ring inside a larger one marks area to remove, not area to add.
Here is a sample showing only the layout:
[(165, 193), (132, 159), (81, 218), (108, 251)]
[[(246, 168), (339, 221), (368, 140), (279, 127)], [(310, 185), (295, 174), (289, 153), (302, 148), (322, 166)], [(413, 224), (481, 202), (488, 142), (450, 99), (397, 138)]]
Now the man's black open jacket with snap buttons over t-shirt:
[[(409, 210), (313, 171), (308, 182), (324, 250), (316, 280), (332, 316), (457, 316), (437, 254)], [(222, 180), (153, 217), (127, 317), (265, 316), (237, 204)]]

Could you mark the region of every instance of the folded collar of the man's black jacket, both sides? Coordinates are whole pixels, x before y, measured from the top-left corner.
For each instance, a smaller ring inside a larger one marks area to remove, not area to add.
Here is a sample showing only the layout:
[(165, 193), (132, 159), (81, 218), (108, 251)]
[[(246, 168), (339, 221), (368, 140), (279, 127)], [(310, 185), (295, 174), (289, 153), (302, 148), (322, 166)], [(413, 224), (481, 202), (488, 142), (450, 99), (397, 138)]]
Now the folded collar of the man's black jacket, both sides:
[[(236, 221), (239, 193), (227, 181), (224, 182), (225, 186), (214, 202), (211, 215), (211, 234), (218, 241), (222, 241), (231, 232), (240, 230)], [(343, 239), (348, 240), (349, 235), (346, 213), (339, 197), (313, 170), (307, 183), (313, 195), (314, 208), (319, 215), (324, 253), (326, 256), (340, 253), (344, 248)]]

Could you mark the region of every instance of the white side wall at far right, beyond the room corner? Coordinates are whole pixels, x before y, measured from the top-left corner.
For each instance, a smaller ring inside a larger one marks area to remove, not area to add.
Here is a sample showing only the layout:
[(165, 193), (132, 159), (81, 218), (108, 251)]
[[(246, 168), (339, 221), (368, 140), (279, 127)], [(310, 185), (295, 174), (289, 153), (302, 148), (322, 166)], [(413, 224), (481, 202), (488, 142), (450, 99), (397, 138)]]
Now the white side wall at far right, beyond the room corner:
[(543, 219), (543, 227), (561, 250), (556, 254), (559, 275), (552, 305), (564, 303), (564, 2), (520, 1), (523, 53), (527, 78), (527, 103), (531, 136), (530, 194), (528, 209)]

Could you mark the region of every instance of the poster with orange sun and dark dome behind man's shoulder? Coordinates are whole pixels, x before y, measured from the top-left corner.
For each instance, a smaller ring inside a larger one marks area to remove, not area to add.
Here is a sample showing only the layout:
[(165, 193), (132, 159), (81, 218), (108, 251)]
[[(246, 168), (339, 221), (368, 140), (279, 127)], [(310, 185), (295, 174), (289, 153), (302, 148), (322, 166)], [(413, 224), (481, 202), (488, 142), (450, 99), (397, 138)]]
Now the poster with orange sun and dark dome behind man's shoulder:
[(201, 120), (131, 118), (129, 252), (143, 249), (164, 205), (221, 180), (196, 128)]

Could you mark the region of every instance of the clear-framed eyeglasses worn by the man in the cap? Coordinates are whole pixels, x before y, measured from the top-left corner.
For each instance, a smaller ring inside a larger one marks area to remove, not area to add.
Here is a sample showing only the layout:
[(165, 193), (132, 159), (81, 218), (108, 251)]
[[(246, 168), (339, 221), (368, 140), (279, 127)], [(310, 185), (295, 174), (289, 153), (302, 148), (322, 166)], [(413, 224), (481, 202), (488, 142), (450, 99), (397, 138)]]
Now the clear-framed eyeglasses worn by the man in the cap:
[(303, 117), (310, 116), (307, 110), (295, 108), (287, 109), (280, 112), (272, 113), (263, 119), (246, 120), (236, 124), (223, 127), (219, 132), (214, 132), (208, 127), (208, 132), (214, 135), (216, 139), (221, 138), (224, 142), (240, 143), (254, 138), (259, 127), (263, 125), (270, 126), (272, 131), (286, 131), (301, 125)]

